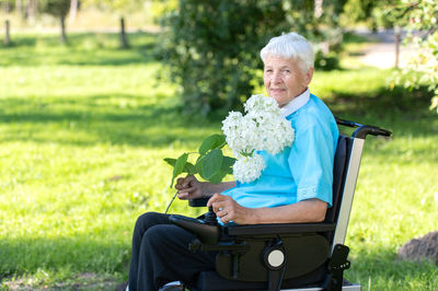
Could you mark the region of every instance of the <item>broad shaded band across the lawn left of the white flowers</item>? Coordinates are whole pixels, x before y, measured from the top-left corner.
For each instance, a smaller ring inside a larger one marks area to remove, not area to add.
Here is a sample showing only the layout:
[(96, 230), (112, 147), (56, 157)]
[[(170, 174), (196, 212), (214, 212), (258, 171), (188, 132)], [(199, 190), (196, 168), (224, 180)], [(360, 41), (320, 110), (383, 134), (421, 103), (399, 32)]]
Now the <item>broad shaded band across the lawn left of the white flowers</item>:
[[(115, 94), (120, 101), (139, 96)], [(35, 141), (92, 146), (166, 147), (175, 141), (197, 143), (209, 131), (219, 131), (218, 121), (182, 114), (178, 106), (158, 104), (124, 107), (102, 104), (107, 96), (87, 100), (59, 97), (48, 103), (18, 98), (0, 101), (0, 123), (7, 124), (0, 142)], [(113, 97), (114, 100), (114, 97)], [(10, 108), (18, 108), (11, 112)]]

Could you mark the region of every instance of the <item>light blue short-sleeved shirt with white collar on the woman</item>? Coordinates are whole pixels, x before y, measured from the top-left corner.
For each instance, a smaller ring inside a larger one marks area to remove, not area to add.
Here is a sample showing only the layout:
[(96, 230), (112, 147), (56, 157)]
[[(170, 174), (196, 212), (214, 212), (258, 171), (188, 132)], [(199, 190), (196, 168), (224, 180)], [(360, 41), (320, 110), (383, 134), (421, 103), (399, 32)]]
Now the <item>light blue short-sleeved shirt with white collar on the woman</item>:
[(333, 160), (338, 129), (327, 106), (307, 90), (281, 108), (295, 129), (291, 147), (260, 152), (266, 168), (252, 183), (223, 191), (249, 208), (278, 207), (318, 198), (332, 206)]

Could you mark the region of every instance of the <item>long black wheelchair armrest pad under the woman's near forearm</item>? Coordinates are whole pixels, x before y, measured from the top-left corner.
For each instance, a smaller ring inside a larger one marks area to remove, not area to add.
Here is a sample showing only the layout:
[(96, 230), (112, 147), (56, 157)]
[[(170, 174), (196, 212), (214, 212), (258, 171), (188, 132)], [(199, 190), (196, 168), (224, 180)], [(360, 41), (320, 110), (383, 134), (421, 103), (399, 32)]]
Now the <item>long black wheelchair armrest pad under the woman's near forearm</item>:
[(223, 231), (230, 236), (270, 235), (292, 233), (330, 232), (335, 230), (335, 223), (273, 223), (256, 225), (224, 225)]

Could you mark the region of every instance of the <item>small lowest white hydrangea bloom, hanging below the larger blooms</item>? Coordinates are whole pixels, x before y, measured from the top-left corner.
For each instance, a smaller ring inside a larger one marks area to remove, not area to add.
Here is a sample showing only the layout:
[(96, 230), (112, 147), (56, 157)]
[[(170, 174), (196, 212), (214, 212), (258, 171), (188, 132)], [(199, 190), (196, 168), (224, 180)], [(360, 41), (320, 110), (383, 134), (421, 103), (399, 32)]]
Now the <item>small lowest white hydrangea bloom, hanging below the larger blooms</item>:
[(262, 155), (254, 154), (239, 159), (233, 165), (233, 174), (237, 179), (242, 183), (250, 183), (257, 179), (262, 175), (262, 171), (265, 170), (265, 161)]

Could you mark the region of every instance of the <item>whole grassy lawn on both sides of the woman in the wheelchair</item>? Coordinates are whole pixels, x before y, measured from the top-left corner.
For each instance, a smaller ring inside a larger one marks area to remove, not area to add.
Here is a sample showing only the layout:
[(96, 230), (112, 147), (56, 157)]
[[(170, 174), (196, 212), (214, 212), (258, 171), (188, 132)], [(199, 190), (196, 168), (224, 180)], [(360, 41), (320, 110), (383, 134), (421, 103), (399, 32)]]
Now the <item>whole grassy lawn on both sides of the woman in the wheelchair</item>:
[[(219, 132), (180, 114), (177, 89), (157, 81), (155, 36), (20, 35), (0, 46), (0, 289), (110, 289), (127, 278), (136, 218), (173, 191), (162, 162)], [(315, 73), (336, 115), (378, 125), (369, 138), (346, 244), (346, 277), (364, 290), (434, 290), (438, 269), (396, 259), (437, 230), (438, 116), (422, 92), (388, 90), (388, 70)], [(199, 210), (176, 201), (172, 212)], [(437, 289), (435, 289), (437, 290)]]

